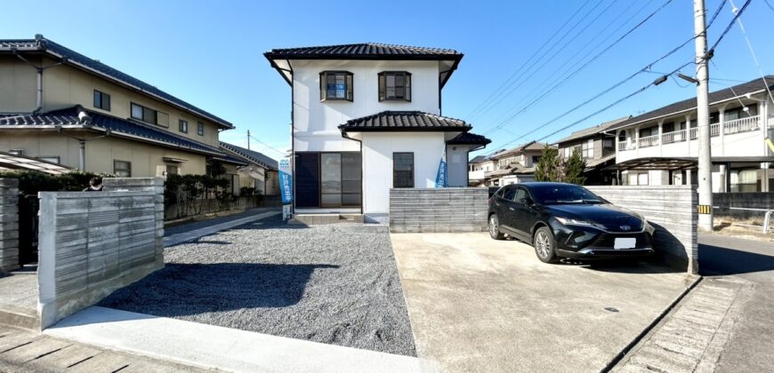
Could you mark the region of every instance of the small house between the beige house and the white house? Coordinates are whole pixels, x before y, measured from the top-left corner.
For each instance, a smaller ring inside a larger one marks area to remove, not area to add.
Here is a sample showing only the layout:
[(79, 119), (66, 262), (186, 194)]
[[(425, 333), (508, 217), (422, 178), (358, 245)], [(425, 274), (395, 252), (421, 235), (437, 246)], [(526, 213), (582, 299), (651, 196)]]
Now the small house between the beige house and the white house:
[(246, 164), (238, 167), (239, 187), (252, 187), (260, 194), (279, 194), (278, 163), (267, 155), (221, 141), (221, 149)]

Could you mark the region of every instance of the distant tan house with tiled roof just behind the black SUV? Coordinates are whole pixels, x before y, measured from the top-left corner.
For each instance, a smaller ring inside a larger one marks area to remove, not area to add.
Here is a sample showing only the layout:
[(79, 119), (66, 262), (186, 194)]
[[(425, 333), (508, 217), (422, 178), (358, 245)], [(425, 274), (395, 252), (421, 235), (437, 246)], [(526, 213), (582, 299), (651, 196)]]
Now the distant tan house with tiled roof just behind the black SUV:
[(480, 162), (484, 171), (484, 185), (486, 187), (503, 187), (510, 184), (519, 184), (535, 181), (535, 167), (543, 155), (544, 147), (548, 144), (530, 141), (527, 144), (510, 149), (500, 150)]

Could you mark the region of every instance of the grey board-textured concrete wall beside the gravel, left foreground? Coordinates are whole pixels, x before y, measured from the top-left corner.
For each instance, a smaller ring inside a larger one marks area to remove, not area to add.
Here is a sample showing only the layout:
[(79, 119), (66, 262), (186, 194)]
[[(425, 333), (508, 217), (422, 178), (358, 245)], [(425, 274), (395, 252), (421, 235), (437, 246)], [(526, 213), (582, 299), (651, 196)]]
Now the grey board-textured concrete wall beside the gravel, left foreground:
[(38, 194), (41, 329), (164, 266), (163, 180), (104, 182)]

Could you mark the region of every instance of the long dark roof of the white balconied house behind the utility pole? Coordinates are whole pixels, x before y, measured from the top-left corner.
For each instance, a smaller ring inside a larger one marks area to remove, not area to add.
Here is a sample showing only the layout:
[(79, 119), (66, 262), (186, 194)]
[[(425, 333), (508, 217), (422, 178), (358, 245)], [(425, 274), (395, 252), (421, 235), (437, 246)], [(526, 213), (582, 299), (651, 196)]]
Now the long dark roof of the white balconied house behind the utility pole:
[[(709, 94), (709, 104), (714, 105), (718, 102), (744, 96), (747, 93), (766, 91), (767, 84), (769, 85), (769, 89), (771, 91), (774, 91), (774, 75), (766, 75), (766, 83), (763, 82), (763, 79), (758, 78), (758, 79), (751, 80), (747, 83), (734, 85), (733, 87), (726, 88), (724, 90), (711, 92)], [(623, 128), (632, 124), (646, 122), (651, 119), (656, 119), (662, 116), (679, 114), (682, 112), (695, 110), (695, 109), (696, 109), (695, 97), (692, 99), (683, 99), (682, 101), (675, 102), (665, 107), (659, 107), (656, 110), (649, 111), (648, 113), (645, 113), (643, 115), (637, 115), (623, 123), (618, 123), (617, 125), (611, 126), (608, 129), (608, 131), (617, 130), (619, 128)]]

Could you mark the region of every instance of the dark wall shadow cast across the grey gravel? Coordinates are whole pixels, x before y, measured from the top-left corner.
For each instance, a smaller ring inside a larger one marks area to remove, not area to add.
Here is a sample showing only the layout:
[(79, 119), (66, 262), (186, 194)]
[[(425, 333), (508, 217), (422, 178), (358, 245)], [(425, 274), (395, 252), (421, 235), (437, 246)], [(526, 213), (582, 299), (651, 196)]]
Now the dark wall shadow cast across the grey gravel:
[(311, 274), (331, 265), (167, 264), (97, 306), (175, 317), (297, 304)]

